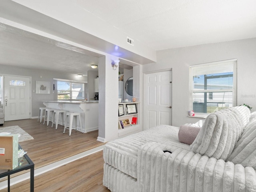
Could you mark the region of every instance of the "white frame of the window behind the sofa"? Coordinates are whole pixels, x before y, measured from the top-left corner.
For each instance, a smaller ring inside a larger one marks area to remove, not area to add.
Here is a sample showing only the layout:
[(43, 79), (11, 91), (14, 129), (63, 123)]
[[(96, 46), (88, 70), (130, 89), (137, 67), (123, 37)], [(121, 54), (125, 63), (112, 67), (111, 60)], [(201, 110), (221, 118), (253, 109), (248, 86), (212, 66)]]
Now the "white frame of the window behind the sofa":
[[(237, 106), (237, 59), (230, 59), (230, 60), (224, 60), (224, 61), (218, 61), (218, 62), (210, 62), (205, 64), (197, 64), (197, 65), (191, 65), (189, 66), (189, 110), (193, 110), (193, 93), (194, 92), (209, 92), (209, 90), (193, 90), (193, 68), (194, 67), (207, 67), (207, 66), (214, 66), (214, 65), (221, 65), (225, 64), (227, 62), (233, 62), (233, 89), (232, 89), (232, 106)], [(212, 90), (212, 92), (224, 92), (224, 91), (230, 91), (230, 90)], [(208, 113), (209, 114), (209, 113)], [(206, 117), (208, 115), (207, 113), (199, 113), (196, 112), (196, 115), (194, 117)]]

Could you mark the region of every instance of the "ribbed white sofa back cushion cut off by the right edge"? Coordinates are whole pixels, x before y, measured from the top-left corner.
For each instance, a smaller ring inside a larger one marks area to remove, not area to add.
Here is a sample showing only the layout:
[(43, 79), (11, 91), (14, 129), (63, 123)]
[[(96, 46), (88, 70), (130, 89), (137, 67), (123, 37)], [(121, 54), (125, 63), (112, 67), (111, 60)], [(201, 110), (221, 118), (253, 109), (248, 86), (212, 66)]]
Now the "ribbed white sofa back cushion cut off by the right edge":
[[(228, 161), (256, 169), (256, 113), (252, 113), (241, 138), (236, 143)], [(254, 117), (253, 117), (254, 116)]]

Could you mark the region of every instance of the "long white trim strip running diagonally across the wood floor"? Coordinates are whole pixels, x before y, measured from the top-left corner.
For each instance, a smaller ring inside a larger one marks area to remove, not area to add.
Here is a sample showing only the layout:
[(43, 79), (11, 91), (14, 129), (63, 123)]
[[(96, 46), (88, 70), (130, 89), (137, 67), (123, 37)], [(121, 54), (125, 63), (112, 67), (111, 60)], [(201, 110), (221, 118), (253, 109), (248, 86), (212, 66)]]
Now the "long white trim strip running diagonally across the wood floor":
[[(99, 151), (103, 150), (103, 148), (104, 148), (104, 144), (101, 145), (101, 146), (92, 148), (90, 150), (84, 151), (82, 153), (76, 154), (74, 156), (71, 156), (71, 157), (62, 159), (60, 161), (54, 162), (52, 164), (49, 164), (49, 165), (37, 168), (37, 169), (34, 170), (34, 176), (38, 176), (40, 174), (46, 173), (46, 172), (48, 172), (50, 170), (56, 169), (56, 168), (58, 168), (60, 166), (63, 166), (63, 165), (66, 165), (66, 164), (68, 164), (70, 162), (78, 160), (80, 158), (84, 158), (86, 156), (89, 156), (91, 154), (99, 152)], [(30, 179), (30, 172), (26, 172), (24, 174), (21, 174), (21, 175), (18, 175), (16, 177), (11, 178), (10, 179), (10, 186), (12, 186), (14, 184), (17, 184), (19, 182), (22, 182), (24, 180), (27, 180), (27, 179)], [(8, 187), (7, 180), (0, 182), (0, 190), (5, 189), (7, 187)]]

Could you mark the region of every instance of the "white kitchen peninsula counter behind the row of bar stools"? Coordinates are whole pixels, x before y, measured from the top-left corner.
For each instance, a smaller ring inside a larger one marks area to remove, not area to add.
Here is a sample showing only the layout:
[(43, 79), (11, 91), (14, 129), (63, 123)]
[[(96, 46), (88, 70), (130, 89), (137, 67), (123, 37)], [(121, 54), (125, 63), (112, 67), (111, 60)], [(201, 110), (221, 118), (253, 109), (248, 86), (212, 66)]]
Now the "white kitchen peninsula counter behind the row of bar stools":
[[(63, 109), (67, 112), (80, 112), (83, 133), (98, 130), (99, 101), (43, 101), (48, 108)], [(77, 122), (79, 125), (79, 121)]]

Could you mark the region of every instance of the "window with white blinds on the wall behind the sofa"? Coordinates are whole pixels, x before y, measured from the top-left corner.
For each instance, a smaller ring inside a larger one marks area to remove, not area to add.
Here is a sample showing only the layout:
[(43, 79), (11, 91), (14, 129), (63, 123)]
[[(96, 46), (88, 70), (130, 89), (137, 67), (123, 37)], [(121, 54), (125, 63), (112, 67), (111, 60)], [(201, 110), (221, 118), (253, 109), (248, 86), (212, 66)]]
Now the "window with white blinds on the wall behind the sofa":
[(190, 66), (190, 110), (207, 114), (236, 106), (236, 66), (236, 59)]

